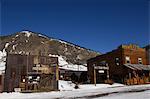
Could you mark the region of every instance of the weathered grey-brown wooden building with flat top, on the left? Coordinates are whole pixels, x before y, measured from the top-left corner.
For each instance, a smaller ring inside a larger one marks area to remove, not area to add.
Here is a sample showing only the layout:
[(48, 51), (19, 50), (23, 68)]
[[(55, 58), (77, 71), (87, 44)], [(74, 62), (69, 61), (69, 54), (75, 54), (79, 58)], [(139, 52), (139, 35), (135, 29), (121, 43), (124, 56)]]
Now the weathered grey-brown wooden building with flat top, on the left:
[(4, 82), (6, 92), (58, 90), (58, 58), (8, 54)]

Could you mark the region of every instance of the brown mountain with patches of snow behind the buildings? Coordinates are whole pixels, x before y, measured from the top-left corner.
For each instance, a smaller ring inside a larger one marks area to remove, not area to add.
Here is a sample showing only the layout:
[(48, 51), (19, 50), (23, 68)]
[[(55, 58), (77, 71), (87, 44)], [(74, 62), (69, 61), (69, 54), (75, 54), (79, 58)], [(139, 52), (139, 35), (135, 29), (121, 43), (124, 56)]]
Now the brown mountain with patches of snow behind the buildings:
[(21, 31), (8, 36), (0, 36), (0, 66), (5, 65), (6, 53), (49, 55), (59, 58), (60, 68), (86, 70), (86, 60), (100, 55), (64, 40), (54, 39), (40, 33)]

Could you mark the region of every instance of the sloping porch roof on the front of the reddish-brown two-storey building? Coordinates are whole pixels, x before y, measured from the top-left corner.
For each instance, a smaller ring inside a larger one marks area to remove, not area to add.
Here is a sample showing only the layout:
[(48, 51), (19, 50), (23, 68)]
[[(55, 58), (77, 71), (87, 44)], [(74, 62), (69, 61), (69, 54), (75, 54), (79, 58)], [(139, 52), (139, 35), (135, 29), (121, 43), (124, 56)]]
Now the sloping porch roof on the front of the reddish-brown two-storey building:
[(150, 65), (143, 64), (124, 64), (124, 66), (133, 69), (133, 70), (150, 70)]

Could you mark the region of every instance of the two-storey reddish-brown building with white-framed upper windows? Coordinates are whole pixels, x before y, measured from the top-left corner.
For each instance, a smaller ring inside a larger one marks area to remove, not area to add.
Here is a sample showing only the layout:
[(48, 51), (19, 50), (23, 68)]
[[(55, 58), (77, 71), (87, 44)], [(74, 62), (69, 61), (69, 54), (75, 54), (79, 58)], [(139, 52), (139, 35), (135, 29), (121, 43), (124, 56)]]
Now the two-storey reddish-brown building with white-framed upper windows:
[[(144, 82), (142, 79), (147, 77), (148, 80), (150, 71), (150, 66), (146, 62), (146, 50), (137, 45), (121, 45), (111, 52), (89, 59), (87, 66), (91, 83), (94, 83), (94, 67), (100, 66), (101, 62), (108, 64), (109, 79), (115, 82), (126, 84), (149, 82), (145, 80)], [(99, 74), (98, 71), (97, 74)], [(97, 82), (101, 82), (101, 80), (103, 79), (97, 79)]]

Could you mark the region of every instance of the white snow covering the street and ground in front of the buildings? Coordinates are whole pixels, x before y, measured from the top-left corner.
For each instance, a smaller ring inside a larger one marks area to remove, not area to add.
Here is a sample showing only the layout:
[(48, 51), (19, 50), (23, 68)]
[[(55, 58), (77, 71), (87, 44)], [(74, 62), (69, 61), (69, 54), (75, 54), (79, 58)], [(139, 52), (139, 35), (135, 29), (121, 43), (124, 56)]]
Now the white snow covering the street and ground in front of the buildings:
[[(42, 92), (42, 93), (1, 93), (0, 99), (68, 99), (68, 98), (81, 98), (83, 99), (91, 99), (87, 96), (95, 96), (99, 94), (113, 93), (113, 92), (124, 92), (124, 91), (132, 91), (132, 90), (141, 90), (150, 88), (150, 84), (148, 85), (134, 85), (134, 86), (124, 86), (122, 84), (97, 84), (96, 87), (94, 85), (80, 85), (81, 89), (73, 89), (70, 81), (59, 81), (60, 84), (63, 85), (63, 88), (71, 89), (69, 91), (52, 91), (52, 92)], [(61, 86), (61, 85), (60, 85)], [(60, 88), (59, 86), (59, 88)], [(82, 86), (82, 87), (81, 87)], [(92, 87), (91, 87), (92, 86)], [(62, 87), (62, 86), (61, 86)], [(108, 96), (97, 97), (95, 99), (149, 99), (150, 91), (145, 91), (140, 93), (114, 93)], [(121, 96), (119, 96), (121, 95)], [(137, 95), (137, 96), (136, 96)], [(138, 97), (139, 96), (139, 97)], [(107, 98), (108, 97), (108, 98)], [(136, 98), (135, 98), (136, 97)]]

